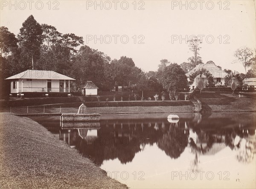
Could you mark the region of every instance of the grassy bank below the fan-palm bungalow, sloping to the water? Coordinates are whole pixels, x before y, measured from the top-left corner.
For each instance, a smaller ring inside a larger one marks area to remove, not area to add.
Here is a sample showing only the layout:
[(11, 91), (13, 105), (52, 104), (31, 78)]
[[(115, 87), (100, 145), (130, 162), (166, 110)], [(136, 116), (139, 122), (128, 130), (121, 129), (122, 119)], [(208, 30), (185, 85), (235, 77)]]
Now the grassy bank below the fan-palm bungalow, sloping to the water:
[(256, 111), (256, 93), (202, 92), (196, 94), (204, 112), (250, 112)]

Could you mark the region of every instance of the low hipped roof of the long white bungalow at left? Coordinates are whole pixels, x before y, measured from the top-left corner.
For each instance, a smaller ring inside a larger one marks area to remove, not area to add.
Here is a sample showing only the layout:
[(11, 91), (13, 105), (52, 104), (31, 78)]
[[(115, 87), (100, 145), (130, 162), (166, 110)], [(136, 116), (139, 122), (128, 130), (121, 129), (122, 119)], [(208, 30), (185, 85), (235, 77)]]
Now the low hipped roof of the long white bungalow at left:
[(68, 77), (63, 74), (59, 74), (54, 71), (47, 71), (47, 70), (32, 70), (28, 69), (24, 72), (19, 74), (13, 75), (11, 77), (7, 77), (6, 80), (12, 79), (50, 79), (50, 80), (75, 80), (71, 77)]

